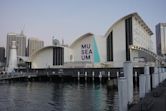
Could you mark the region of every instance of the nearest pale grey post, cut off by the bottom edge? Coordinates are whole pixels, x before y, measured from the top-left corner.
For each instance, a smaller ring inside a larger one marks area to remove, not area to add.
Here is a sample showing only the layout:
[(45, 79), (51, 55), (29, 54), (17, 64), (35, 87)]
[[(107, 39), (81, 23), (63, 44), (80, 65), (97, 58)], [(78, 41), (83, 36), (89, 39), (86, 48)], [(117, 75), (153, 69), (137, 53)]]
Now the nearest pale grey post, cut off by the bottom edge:
[(118, 104), (119, 111), (128, 110), (128, 97), (127, 97), (127, 79), (125, 77), (118, 78)]

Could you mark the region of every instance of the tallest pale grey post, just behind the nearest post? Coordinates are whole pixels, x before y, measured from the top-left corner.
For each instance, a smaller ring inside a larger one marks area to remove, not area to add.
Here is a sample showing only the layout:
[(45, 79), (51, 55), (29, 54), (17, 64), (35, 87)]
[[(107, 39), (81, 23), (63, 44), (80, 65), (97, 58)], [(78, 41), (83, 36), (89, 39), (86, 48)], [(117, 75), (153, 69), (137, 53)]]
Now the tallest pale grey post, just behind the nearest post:
[(133, 102), (133, 64), (130, 61), (123, 64), (124, 76), (127, 79), (128, 102)]

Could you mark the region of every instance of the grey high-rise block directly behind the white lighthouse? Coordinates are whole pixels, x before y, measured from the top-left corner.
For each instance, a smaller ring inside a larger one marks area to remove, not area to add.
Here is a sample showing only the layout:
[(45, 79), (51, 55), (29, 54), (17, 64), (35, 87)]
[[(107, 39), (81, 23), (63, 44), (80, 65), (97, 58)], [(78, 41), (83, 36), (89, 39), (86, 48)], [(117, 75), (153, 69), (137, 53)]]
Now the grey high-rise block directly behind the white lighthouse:
[(17, 56), (25, 56), (26, 54), (26, 36), (24, 35), (23, 31), (20, 34), (16, 33), (8, 33), (7, 34), (7, 43), (6, 43), (6, 59), (7, 59), (7, 66), (9, 64), (9, 53), (10, 53), (10, 46), (12, 41), (16, 41), (17, 47)]

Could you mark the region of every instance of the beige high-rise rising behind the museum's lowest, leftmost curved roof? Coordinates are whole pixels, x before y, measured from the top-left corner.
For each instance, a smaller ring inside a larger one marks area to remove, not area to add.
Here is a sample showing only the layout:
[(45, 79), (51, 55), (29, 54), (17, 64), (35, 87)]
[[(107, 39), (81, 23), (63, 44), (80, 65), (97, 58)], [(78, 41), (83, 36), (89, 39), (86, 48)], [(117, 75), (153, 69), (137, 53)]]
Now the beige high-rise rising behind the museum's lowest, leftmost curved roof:
[(28, 56), (31, 56), (34, 52), (44, 47), (44, 41), (41, 41), (37, 38), (29, 38), (28, 39), (28, 48), (27, 53)]

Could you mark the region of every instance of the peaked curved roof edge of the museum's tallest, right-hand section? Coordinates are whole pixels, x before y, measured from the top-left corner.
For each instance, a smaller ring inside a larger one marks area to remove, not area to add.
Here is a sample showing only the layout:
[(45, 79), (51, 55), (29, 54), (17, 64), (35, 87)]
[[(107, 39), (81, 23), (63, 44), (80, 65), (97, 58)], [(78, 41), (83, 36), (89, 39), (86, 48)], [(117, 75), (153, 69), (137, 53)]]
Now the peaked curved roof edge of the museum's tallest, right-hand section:
[(151, 29), (146, 25), (146, 23), (142, 20), (142, 18), (136, 13), (131, 13), (129, 15), (126, 15), (124, 17), (122, 17), (121, 19), (119, 19), (118, 21), (116, 21), (109, 29), (108, 31), (106, 32), (105, 34), (105, 37), (107, 37), (109, 35), (109, 33), (112, 31), (113, 27), (119, 23), (120, 21), (124, 20), (124, 19), (127, 19), (129, 17), (133, 17), (135, 16), (135, 18), (141, 23), (141, 25), (144, 27), (144, 29), (150, 34), (150, 35), (153, 35), (153, 32), (151, 31)]

